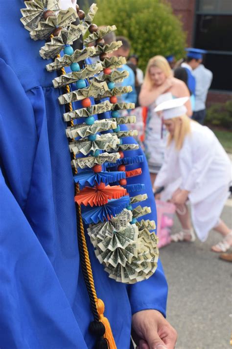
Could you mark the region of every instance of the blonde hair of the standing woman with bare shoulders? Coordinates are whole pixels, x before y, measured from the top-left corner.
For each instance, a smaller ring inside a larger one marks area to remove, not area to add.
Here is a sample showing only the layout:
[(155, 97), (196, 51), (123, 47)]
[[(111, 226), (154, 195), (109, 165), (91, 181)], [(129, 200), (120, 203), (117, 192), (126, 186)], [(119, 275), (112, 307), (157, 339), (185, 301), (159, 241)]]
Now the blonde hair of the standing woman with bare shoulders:
[(146, 67), (146, 73), (144, 77), (144, 84), (148, 86), (149, 88), (152, 87), (153, 82), (150, 78), (150, 68), (151, 67), (157, 67), (162, 70), (166, 78), (171, 78), (173, 76), (172, 70), (168, 64), (168, 61), (161, 55), (157, 55), (149, 59), (147, 67)]

